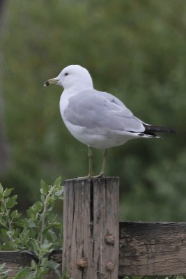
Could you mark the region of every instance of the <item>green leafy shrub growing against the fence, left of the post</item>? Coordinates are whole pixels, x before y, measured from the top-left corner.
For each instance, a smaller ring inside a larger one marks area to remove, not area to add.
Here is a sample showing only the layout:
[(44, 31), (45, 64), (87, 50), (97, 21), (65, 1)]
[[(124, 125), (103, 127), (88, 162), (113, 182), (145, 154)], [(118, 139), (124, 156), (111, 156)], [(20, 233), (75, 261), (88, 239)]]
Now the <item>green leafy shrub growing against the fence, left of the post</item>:
[[(40, 201), (26, 211), (25, 218), (15, 209), (17, 195), (11, 196), (12, 190), (4, 190), (0, 184), (0, 249), (29, 250), (38, 258), (37, 262), (31, 261), (31, 266), (22, 267), (15, 278), (44, 278), (49, 270), (61, 278), (59, 264), (48, 258), (52, 250), (62, 246), (62, 226), (52, 213), (56, 199), (63, 199), (61, 177), (53, 185), (41, 181)], [(9, 271), (5, 264), (0, 265), (1, 278), (8, 278)]]

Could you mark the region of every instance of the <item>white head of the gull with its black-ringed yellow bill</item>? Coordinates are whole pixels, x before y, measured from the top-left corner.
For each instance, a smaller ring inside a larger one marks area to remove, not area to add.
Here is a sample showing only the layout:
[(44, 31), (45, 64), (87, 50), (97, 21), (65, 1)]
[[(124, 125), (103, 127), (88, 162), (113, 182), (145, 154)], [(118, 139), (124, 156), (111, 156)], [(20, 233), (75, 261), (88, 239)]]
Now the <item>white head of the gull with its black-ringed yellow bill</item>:
[(79, 89), (93, 88), (93, 81), (88, 70), (79, 65), (65, 67), (57, 77), (47, 80), (44, 86), (50, 84), (63, 86), (63, 89), (71, 89), (72, 87)]

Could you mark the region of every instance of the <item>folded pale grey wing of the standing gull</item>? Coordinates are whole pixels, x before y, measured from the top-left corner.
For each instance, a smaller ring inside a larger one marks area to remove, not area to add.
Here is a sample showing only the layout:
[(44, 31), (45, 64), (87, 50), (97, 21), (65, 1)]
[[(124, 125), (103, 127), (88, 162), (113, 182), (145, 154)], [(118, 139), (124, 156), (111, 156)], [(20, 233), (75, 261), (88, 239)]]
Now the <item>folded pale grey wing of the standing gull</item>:
[(109, 93), (86, 89), (69, 98), (64, 116), (76, 126), (109, 131), (143, 132), (143, 123), (133, 116), (121, 100)]

